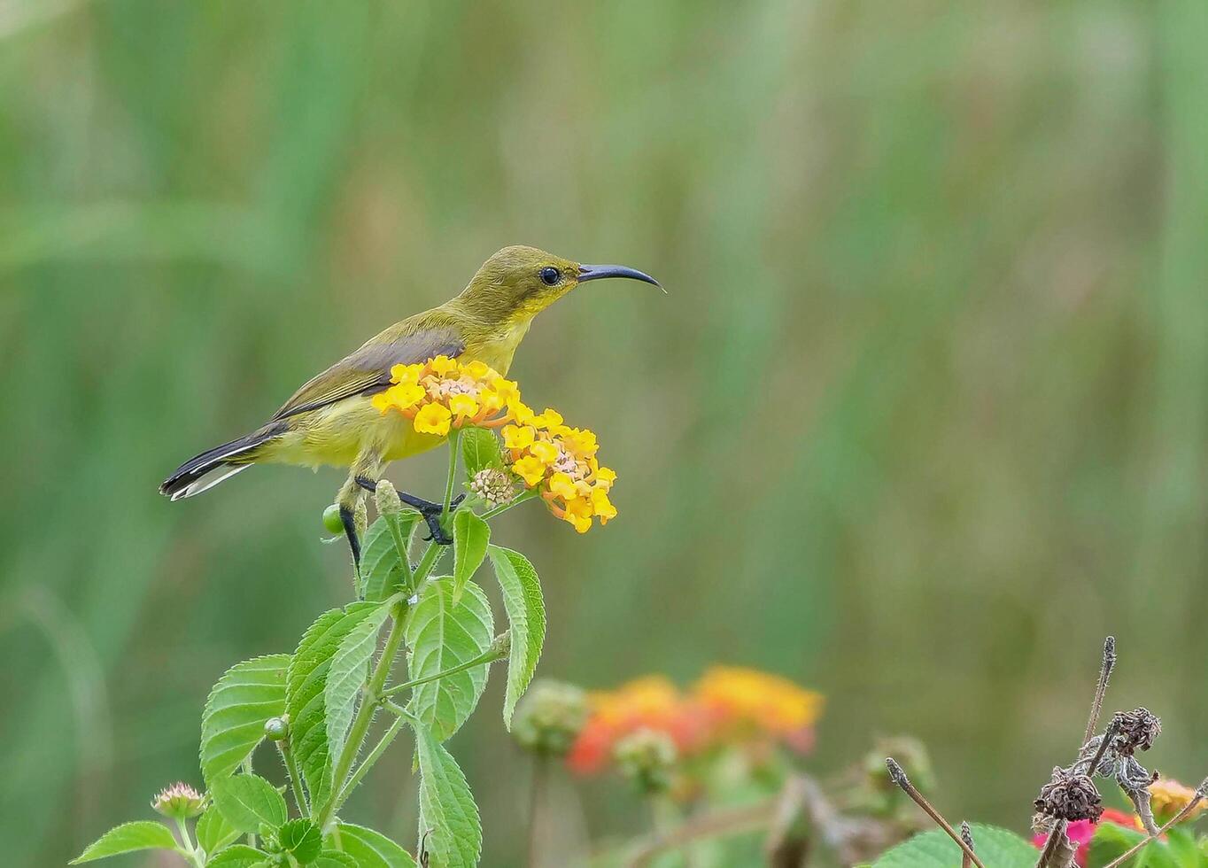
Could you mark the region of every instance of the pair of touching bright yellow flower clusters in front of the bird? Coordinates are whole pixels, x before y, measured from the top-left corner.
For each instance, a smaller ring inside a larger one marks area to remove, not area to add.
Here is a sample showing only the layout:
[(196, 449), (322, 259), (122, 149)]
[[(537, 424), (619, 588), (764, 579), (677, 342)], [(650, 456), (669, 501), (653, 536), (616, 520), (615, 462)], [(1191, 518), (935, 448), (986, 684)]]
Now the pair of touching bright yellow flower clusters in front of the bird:
[(548, 407), (534, 412), (521, 400), (515, 381), (481, 361), (460, 363), (445, 355), (424, 364), (395, 365), (391, 386), (373, 395), (379, 412), (401, 412), (420, 434), (446, 436), (472, 426), (503, 426), (511, 470), (534, 488), (550, 511), (579, 533), (616, 517), (609, 491), (616, 474), (596, 459), (596, 434), (562, 423)]

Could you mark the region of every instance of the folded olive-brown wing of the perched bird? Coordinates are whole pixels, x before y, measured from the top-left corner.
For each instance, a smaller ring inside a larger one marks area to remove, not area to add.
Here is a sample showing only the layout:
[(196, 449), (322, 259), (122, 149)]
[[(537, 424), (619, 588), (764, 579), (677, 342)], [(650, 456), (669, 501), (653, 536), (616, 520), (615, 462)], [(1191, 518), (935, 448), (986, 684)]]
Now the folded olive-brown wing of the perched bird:
[(390, 384), (394, 365), (417, 364), (436, 355), (454, 358), (464, 349), (465, 340), (455, 323), (432, 317), (405, 319), (302, 386), (273, 419), (381, 392)]

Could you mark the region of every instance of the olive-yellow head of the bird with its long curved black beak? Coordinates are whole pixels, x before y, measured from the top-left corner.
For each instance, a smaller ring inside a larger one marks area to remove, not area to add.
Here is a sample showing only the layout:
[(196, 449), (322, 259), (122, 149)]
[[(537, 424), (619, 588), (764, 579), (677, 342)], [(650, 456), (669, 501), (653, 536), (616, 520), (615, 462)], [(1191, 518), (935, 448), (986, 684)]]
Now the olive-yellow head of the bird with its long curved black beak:
[[(580, 265), (535, 247), (505, 247), (482, 264), (459, 300), (474, 313), (525, 323), (580, 283), (605, 277), (658, 280), (623, 265)], [(661, 287), (660, 287), (661, 288)]]

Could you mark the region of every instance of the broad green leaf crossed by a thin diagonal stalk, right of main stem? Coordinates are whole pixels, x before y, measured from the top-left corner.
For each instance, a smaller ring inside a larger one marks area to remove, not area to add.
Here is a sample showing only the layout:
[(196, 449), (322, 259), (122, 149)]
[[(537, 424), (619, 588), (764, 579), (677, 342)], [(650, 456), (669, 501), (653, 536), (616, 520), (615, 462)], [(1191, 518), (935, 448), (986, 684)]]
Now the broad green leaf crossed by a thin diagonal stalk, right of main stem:
[[(481, 655), (490, 647), (494, 619), (487, 595), (472, 581), (458, 604), (453, 603), (453, 579), (429, 581), (419, 601), (407, 613), (408, 675), (428, 678)], [(467, 670), (418, 685), (411, 710), (440, 741), (453, 735), (478, 704), (487, 687), (487, 666)]]

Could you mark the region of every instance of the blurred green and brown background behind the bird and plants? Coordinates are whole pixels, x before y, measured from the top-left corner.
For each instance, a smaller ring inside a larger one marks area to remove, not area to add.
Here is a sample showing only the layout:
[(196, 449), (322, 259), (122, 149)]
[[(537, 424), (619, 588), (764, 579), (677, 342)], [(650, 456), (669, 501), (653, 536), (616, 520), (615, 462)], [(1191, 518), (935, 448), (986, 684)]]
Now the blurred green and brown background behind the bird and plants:
[[(210, 684), (347, 597), (338, 473), (161, 479), (511, 243), (670, 290), (585, 288), (517, 354), (621, 475), (605, 530), (496, 530), (540, 673), (780, 672), (829, 698), (813, 768), (912, 733), (943, 810), (1023, 831), (1114, 632), (1109, 707), (1200, 780), (1206, 39), (1202, 0), (0, 4), (7, 864), (199, 782)], [(453, 750), (510, 866), (498, 676)], [(411, 843), (388, 763), (347, 812)]]

